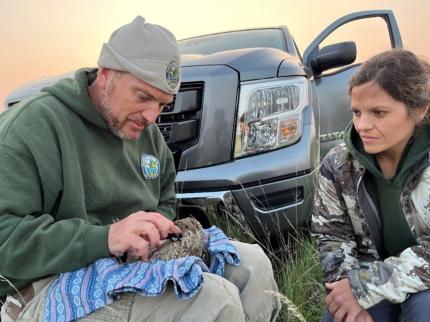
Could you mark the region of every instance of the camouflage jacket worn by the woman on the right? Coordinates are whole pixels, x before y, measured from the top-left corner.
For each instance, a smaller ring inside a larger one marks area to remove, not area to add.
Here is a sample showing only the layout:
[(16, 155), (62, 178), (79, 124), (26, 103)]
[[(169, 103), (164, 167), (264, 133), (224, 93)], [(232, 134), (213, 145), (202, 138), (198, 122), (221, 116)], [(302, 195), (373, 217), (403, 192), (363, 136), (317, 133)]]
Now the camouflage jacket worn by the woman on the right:
[(381, 222), (363, 183), (365, 168), (345, 144), (332, 149), (319, 173), (312, 216), (326, 282), (349, 278), (364, 308), (383, 299), (403, 302), (430, 288), (430, 156), (416, 163), (401, 194), (406, 221), (417, 245), (382, 258)]

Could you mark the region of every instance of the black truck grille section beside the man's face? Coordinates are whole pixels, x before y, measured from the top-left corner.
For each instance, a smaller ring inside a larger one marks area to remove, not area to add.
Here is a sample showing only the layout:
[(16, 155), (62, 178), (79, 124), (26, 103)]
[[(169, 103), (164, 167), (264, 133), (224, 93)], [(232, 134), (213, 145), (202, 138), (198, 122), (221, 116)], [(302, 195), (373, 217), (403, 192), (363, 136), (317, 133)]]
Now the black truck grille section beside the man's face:
[(173, 102), (164, 107), (156, 121), (173, 152), (176, 167), (181, 152), (198, 141), (203, 90), (203, 82), (182, 83)]

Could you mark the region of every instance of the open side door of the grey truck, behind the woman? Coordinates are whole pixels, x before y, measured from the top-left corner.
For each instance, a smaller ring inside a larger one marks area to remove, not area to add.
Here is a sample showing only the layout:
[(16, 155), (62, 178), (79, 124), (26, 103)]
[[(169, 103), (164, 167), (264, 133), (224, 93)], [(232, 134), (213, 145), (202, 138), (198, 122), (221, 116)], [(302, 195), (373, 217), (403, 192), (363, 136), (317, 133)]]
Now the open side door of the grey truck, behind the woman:
[[(369, 20), (374, 21), (375, 19), (380, 24), (377, 26), (380, 29), (378, 30), (379, 37), (382, 34), (386, 38), (386, 40), (384, 39), (385, 48), (380, 47), (381, 41), (376, 37), (376, 30), (373, 27), (369, 28)], [(347, 34), (347, 37), (350, 38), (349, 41), (321, 46), (334, 32), (355, 21), (360, 21), (361, 25), (365, 26), (361, 35), (354, 36), (350, 33)], [(368, 56), (390, 48), (403, 47), (393, 12), (391, 10), (372, 10), (352, 13), (337, 19), (315, 38), (303, 54), (303, 63), (314, 77), (318, 95), (321, 155), (339, 143), (343, 130), (352, 119), (348, 84), (361, 65), (361, 62), (357, 62), (356, 59), (357, 47), (354, 39), (359, 36), (365, 38), (363, 47), (371, 53)], [(333, 64), (333, 62), (337, 62), (337, 64)], [(342, 67), (335, 69), (338, 66)]]

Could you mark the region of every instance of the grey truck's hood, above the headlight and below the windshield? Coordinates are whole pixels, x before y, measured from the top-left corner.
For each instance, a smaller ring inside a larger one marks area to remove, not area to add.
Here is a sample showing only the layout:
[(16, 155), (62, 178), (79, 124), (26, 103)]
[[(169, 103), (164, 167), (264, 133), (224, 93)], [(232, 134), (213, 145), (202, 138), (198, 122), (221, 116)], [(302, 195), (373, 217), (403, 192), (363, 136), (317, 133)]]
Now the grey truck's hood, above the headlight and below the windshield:
[[(288, 72), (281, 68), (287, 61)], [(274, 48), (245, 48), (222, 51), (211, 55), (182, 55), (182, 67), (225, 65), (239, 73), (240, 81), (303, 75), (300, 61), (285, 51)], [(293, 68), (292, 68), (293, 67)], [(279, 74), (282, 70), (283, 75)]]

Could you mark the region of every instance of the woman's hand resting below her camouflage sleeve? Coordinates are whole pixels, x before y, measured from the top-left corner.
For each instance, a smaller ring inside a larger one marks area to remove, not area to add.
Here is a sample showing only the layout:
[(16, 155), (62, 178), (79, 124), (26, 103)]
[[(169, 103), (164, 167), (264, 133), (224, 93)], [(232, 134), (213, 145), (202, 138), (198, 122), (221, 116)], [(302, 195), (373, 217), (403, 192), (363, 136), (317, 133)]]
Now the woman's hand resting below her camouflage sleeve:
[(358, 304), (347, 278), (334, 283), (326, 283), (330, 293), (325, 305), (334, 316), (334, 322), (372, 322), (369, 313)]

